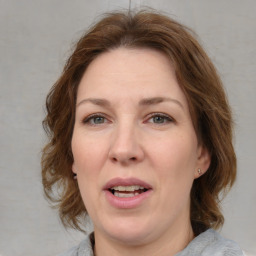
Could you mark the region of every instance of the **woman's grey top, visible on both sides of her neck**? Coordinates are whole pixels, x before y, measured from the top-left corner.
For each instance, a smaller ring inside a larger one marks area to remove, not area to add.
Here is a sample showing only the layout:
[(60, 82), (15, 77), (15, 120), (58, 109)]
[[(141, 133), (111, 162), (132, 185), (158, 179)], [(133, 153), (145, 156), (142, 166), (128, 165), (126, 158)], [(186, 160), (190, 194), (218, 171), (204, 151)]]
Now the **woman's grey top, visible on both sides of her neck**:
[[(93, 234), (91, 234), (78, 246), (58, 256), (94, 256), (93, 244)], [(237, 243), (223, 238), (213, 229), (208, 229), (175, 256), (244, 256), (244, 254)]]

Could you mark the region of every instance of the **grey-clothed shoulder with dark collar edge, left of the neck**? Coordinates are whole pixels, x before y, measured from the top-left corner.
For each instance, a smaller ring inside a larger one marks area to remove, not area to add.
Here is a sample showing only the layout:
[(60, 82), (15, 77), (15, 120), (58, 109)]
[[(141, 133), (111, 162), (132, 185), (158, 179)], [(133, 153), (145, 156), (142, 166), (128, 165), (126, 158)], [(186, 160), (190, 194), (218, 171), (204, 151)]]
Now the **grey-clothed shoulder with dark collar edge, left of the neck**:
[(85, 239), (75, 247), (57, 256), (93, 256), (93, 233), (87, 235)]

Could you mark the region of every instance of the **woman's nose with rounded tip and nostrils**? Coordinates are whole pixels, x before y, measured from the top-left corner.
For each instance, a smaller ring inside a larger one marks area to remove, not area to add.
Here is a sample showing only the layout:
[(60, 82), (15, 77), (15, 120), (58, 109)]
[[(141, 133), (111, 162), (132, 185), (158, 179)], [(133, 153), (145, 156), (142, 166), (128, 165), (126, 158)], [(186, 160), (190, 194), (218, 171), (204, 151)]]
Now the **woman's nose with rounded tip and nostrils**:
[(134, 125), (120, 125), (112, 134), (109, 157), (112, 162), (129, 165), (144, 159), (142, 140)]

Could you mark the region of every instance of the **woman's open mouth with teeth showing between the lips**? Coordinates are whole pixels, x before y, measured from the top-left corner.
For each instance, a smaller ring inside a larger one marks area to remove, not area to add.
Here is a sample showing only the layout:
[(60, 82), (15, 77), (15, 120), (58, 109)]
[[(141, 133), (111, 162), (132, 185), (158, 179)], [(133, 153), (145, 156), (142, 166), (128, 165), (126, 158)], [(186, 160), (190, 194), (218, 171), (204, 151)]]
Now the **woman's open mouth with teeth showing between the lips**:
[(114, 196), (127, 198), (138, 196), (146, 191), (147, 188), (144, 188), (139, 185), (131, 185), (131, 186), (114, 186), (108, 189)]

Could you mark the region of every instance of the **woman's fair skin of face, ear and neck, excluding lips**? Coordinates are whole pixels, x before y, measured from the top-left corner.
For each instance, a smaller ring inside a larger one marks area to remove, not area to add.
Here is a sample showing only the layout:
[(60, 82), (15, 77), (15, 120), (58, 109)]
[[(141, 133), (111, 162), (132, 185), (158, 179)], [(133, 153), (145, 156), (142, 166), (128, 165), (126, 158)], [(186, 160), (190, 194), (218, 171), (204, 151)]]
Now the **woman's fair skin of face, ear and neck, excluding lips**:
[[(162, 100), (148, 100), (155, 97)], [(89, 65), (78, 88), (72, 152), (97, 256), (170, 256), (193, 239), (190, 190), (210, 157), (165, 55), (118, 48)], [(116, 177), (143, 180), (152, 192), (132, 209), (113, 207), (103, 187)]]

